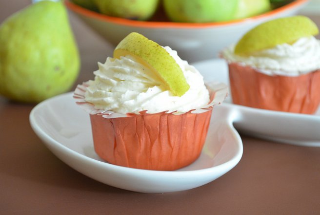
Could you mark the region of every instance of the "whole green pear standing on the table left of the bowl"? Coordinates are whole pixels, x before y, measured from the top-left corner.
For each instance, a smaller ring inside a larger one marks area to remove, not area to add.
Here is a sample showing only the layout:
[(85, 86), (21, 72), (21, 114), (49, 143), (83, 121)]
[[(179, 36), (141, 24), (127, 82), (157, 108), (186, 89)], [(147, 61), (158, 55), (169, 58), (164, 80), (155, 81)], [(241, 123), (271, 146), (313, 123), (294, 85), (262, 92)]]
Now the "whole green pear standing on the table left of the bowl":
[(0, 25), (0, 94), (40, 102), (73, 86), (80, 67), (62, 2), (40, 1)]

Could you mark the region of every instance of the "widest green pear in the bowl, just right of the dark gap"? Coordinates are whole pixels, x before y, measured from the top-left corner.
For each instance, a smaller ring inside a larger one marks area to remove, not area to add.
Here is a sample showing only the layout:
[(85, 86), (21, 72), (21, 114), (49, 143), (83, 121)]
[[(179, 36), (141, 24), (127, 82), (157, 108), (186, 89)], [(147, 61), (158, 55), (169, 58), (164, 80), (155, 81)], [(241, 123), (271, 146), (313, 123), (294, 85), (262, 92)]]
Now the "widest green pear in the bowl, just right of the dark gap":
[(238, 0), (163, 0), (171, 21), (214, 22), (234, 19)]

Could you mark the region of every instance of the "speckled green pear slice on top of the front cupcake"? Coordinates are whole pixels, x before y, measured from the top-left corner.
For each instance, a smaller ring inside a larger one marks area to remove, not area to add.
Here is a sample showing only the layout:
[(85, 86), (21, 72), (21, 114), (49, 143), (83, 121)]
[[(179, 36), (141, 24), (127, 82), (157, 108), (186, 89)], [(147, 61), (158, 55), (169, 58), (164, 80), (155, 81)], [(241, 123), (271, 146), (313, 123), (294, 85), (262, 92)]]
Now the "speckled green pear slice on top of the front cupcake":
[(182, 96), (190, 88), (175, 59), (162, 46), (143, 35), (132, 32), (117, 45), (114, 58), (126, 55), (134, 56), (154, 71), (175, 96)]

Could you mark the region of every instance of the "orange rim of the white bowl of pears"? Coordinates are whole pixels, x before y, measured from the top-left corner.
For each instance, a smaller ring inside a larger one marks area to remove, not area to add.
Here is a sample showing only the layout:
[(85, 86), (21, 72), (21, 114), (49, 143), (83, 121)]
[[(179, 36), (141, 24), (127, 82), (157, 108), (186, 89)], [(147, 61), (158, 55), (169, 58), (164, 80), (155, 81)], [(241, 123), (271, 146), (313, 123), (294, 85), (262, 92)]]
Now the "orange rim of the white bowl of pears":
[(118, 17), (110, 17), (104, 14), (100, 14), (95, 11), (88, 10), (83, 8), (70, 0), (64, 0), (65, 5), (72, 11), (84, 15), (86, 17), (95, 18), (101, 21), (113, 22), (121, 25), (141, 27), (141, 28), (205, 28), (205, 27), (222, 27), (227, 25), (233, 25), (244, 21), (255, 21), (263, 18), (267, 18), (269, 16), (280, 14), (283, 11), (290, 10), (292, 8), (296, 8), (309, 0), (295, 0), (291, 3), (288, 3), (284, 6), (281, 6), (277, 9), (271, 10), (267, 13), (240, 19), (233, 21), (221, 21), (221, 22), (205, 22), (205, 23), (190, 23), (190, 22), (170, 22), (170, 21), (136, 21), (136, 20), (128, 20)]

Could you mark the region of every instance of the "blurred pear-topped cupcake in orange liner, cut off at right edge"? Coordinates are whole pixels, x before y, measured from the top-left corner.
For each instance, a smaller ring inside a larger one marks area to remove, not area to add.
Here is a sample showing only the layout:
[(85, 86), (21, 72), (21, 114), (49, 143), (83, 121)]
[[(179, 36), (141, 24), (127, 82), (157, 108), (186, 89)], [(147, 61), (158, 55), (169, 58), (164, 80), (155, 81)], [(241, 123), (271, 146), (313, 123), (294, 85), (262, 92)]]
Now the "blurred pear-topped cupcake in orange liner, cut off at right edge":
[(220, 56), (229, 67), (234, 104), (313, 114), (320, 103), (320, 41), (303, 16), (268, 21)]

